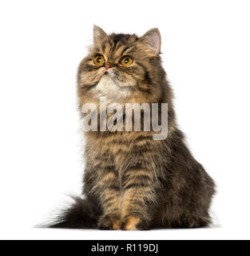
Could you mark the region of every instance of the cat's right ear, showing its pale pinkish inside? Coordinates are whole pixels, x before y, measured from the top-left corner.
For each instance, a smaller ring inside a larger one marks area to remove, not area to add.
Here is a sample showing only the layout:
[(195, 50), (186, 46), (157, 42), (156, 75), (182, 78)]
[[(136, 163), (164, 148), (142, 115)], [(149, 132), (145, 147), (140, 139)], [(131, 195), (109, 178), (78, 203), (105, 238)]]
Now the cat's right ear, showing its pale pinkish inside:
[(161, 34), (160, 31), (155, 28), (146, 32), (139, 42), (146, 47), (149, 54), (158, 55), (161, 51)]

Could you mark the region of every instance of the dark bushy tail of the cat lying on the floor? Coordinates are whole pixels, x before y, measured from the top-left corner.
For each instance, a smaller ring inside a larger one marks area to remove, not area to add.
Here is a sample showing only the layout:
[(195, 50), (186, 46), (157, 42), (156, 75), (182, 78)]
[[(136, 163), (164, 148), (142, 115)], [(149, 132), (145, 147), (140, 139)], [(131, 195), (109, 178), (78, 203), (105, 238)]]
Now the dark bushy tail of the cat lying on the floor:
[(68, 209), (58, 215), (55, 222), (49, 224), (49, 228), (65, 229), (96, 229), (97, 212), (87, 199), (73, 197), (73, 203)]

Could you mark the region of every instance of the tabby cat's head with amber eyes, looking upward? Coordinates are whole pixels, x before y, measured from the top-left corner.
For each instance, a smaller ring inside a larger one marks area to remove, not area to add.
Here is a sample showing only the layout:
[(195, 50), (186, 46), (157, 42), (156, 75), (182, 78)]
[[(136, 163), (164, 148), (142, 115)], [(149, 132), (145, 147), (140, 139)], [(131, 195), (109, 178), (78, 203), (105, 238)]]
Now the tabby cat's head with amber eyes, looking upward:
[[(161, 34), (106, 34), (93, 27), (93, 46), (78, 69), (80, 98), (105, 96), (110, 102), (149, 102), (161, 95), (165, 72), (161, 67)], [(133, 100), (132, 100), (133, 99)]]

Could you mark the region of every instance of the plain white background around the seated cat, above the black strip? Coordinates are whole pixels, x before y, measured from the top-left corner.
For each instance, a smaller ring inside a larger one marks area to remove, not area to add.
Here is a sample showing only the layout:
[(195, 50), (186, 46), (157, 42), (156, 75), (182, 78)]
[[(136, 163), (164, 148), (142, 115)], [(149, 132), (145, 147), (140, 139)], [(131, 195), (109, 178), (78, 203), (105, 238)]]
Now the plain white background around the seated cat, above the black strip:
[[(1, 1), (0, 238), (250, 238), (249, 12), (241, 0)], [(217, 184), (212, 228), (33, 228), (81, 191), (76, 74), (93, 24), (108, 33), (161, 30), (179, 124)]]

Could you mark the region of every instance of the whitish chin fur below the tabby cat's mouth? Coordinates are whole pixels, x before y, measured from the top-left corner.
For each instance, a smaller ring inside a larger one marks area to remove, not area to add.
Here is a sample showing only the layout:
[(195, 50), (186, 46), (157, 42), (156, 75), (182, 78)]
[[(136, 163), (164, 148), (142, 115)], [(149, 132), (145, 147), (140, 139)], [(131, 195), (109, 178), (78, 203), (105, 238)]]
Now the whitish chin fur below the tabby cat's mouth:
[(116, 82), (109, 74), (104, 74), (94, 89), (95, 97), (106, 97), (109, 101), (116, 102), (130, 96), (132, 85), (125, 82)]

